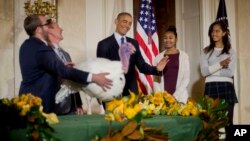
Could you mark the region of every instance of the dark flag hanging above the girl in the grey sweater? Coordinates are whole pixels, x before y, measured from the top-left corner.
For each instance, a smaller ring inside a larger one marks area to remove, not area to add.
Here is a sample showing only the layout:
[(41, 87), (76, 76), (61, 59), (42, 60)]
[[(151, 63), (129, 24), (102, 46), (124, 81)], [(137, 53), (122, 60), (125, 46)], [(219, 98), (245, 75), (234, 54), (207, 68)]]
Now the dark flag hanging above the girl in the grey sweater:
[(227, 19), (227, 9), (225, 0), (220, 0), (216, 21), (224, 21), (228, 26), (228, 19)]

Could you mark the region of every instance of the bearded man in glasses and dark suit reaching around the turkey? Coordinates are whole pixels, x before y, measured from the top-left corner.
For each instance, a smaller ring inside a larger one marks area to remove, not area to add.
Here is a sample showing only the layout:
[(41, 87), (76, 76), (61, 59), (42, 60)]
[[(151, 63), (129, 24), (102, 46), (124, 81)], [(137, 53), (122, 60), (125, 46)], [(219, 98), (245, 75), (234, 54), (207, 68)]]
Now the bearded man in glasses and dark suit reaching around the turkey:
[(59, 89), (58, 77), (78, 83), (97, 83), (108, 89), (112, 81), (106, 78), (108, 73), (91, 74), (67, 67), (56, 58), (52, 48), (47, 45), (48, 21), (45, 16), (31, 15), (25, 18), (24, 28), (30, 36), (21, 45), (19, 63), (22, 82), (19, 94), (32, 93), (42, 98), (45, 112), (54, 112), (55, 94)]

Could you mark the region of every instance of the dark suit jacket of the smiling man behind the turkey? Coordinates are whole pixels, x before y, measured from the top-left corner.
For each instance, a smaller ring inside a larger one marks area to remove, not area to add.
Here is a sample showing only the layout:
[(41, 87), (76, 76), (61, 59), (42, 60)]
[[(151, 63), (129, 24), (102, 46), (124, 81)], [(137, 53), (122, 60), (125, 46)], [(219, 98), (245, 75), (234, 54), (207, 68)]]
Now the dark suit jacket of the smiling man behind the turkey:
[[(127, 42), (134, 45), (136, 52), (131, 55), (129, 61), (129, 70), (125, 74), (126, 84), (123, 89), (123, 96), (129, 95), (129, 91), (138, 93), (138, 86), (135, 75), (135, 67), (139, 69), (141, 73), (159, 75), (156, 67), (147, 64), (140, 52), (138, 42), (132, 38), (126, 37)], [(117, 43), (114, 34), (103, 39), (97, 45), (97, 57), (107, 58), (110, 60), (120, 60), (119, 57), (119, 44)]]

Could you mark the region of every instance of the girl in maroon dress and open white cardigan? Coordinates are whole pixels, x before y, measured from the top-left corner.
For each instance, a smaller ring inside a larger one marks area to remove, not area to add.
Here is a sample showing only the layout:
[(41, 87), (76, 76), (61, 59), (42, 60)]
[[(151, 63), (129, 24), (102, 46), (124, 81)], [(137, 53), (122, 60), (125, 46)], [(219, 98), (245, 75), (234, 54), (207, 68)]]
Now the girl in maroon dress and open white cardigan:
[(165, 50), (158, 54), (154, 63), (167, 56), (168, 64), (163, 70), (162, 76), (155, 76), (154, 91), (167, 91), (179, 101), (186, 103), (189, 95), (187, 86), (190, 80), (189, 57), (176, 48), (177, 32), (174, 26), (170, 26), (163, 37)]

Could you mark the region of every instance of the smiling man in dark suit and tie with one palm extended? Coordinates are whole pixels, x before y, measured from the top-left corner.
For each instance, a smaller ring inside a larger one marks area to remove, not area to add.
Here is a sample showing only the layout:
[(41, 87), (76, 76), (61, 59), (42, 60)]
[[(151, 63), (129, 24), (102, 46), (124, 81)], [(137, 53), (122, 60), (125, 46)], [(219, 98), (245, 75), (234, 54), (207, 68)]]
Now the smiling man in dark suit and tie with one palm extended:
[(134, 45), (136, 51), (130, 56), (129, 69), (125, 74), (126, 84), (123, 90), (123, 96), (126, 96), (129, 95), (129, 90), (138, 93), (135, 67), (137, 67), (141, 73), (161, 75), (161, 71), (167, 64), (168, 59), (163, 58), (157, 67), (151, 66), (144, 61), (138, 42), (132, 38), (126, 37), (126, 33), (130, 30), (132, 25), (131, 14), (126, 12), (119, 13), (115, 19), (115, 24), (115, 33), (98, 43), (97, 57), (103, 57), (110, 60), (120, 60), (118, 50), (122, 42), (130, 42)]

